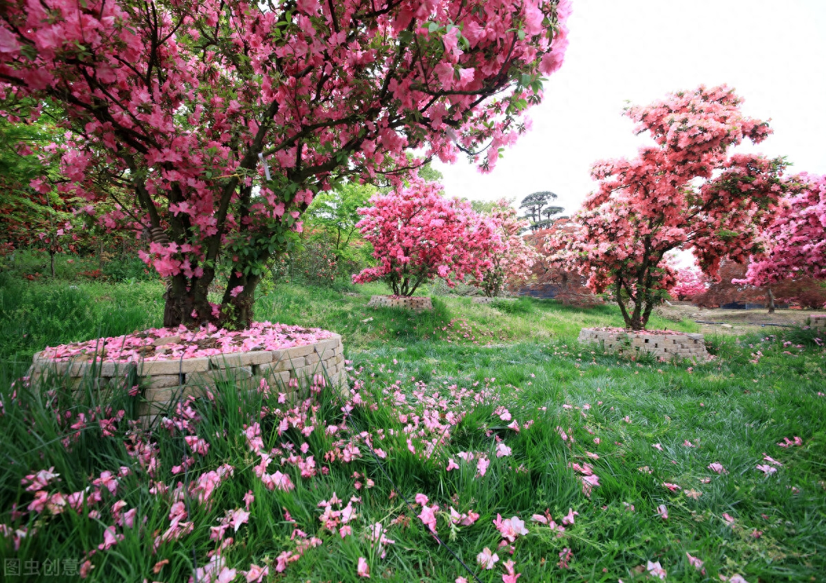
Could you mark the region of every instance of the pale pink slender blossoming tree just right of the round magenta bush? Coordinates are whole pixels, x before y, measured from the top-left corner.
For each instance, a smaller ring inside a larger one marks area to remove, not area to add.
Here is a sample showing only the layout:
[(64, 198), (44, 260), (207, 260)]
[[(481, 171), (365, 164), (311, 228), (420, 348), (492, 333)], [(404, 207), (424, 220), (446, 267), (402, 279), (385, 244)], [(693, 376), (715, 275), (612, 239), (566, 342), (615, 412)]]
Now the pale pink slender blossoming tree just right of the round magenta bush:
[(515, 209), (508, 201), (496, 201), (490, 219), (501, 243), (491, 246), (491, 267), (483, 273), (482, 279), (474, 280), (472, 285), (481, 287), (486, 296), (496, 297), (506, 287), (527, 281), (539, 254), (519, 236), (520, 231), (527, 228), (528, 221), (517, 218)]

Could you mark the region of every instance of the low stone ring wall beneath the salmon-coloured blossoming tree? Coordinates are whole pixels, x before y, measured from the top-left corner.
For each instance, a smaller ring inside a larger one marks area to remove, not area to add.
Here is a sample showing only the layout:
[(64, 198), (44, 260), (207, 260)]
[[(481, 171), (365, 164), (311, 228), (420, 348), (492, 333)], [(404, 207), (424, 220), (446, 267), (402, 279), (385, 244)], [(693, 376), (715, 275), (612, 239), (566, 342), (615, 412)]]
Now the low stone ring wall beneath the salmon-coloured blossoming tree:
[(600, 344), (608, 352), (619, 354), (651, 353), (659, 358), (693, 358), (708, 360), (703, 334), (686, 334), (672, 330), (640, 330), (620, 328), (583, 328), (579, 333), (582, 343)]

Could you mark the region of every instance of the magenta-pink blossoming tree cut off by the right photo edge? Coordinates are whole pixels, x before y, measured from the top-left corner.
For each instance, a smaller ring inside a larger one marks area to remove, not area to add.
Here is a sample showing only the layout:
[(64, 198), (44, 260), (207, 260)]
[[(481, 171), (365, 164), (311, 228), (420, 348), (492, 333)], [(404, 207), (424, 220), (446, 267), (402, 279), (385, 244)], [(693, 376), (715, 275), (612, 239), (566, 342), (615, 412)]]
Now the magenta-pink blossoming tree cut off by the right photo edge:
[(761, 233), (763, 251), (735, 283), (771, 286), (797, 277), (826, 279), (826, 176), (799, 174)]

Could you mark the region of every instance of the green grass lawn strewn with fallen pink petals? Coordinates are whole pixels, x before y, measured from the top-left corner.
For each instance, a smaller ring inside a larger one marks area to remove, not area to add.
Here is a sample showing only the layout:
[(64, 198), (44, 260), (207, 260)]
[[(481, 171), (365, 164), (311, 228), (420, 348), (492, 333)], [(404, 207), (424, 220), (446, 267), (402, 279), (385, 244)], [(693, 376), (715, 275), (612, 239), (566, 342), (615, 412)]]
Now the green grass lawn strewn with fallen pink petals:
[(0, 555), (21, 573), (3, 581), (823, 581), (812, 330), (632, 361), (576, 342), (619, 325), (612, 306), (414, 314), (366, 308), (380, 286), (280, 286), (257, 318), (342, 334), (348, 399), (218, 386), (143, 431), (125, 392), (12, 386), (47, 344), (159, 325), (162, 292), (3, 280)]

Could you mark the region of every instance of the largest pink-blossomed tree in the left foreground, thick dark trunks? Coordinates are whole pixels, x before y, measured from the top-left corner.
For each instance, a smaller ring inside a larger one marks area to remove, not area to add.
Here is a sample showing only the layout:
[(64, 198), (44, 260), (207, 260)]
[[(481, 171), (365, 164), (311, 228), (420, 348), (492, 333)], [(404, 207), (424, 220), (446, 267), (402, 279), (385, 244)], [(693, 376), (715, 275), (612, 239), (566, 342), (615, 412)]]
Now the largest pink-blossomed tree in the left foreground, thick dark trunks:
[(409, 148), (490, 168), (562, 64), (568, 12), (567, 0), (9, 0), (0, 90), (64, 107), (61, 187), (115, 199), (107, 225), (151, 234), (164, 325), (246, 326), (268, 260), (344, 173), (399, 172)]

